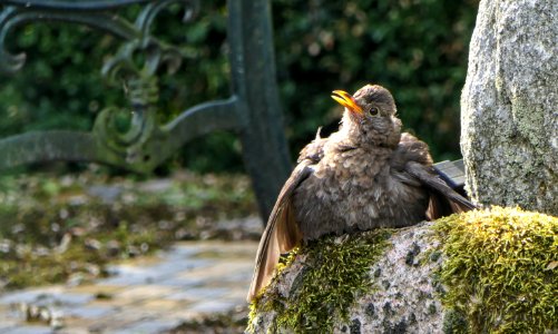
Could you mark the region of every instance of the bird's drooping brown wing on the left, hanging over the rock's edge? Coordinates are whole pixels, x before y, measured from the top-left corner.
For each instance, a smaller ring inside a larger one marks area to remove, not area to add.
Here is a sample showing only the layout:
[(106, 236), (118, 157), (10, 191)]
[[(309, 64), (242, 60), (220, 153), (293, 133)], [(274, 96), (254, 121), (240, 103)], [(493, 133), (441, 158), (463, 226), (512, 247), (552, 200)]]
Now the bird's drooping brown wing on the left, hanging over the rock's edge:
[(312, 164), (314, 161), (311, 159), (302, 160), (281, 189), (257, 248), (254, 276), (247, 296), (248, 303), (254, 299), (262, 287), (270, 283), (281, 254), (291, 250), (302, 239), (298, 225), (294, 219), (292, 195), (296, 187), (313, 173)]

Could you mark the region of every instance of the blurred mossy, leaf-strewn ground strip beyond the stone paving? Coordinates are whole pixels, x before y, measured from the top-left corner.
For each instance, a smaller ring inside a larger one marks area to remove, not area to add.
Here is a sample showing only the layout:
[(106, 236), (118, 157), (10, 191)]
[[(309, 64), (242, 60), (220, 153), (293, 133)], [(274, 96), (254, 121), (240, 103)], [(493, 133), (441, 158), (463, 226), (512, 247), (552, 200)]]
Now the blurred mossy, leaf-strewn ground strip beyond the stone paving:
[[(117, 195), (99, 198), (94, 186)], [(237, 237), (211, 223), (254, 213), (242, 176), (180, 174), (148, 183), (91, 173), (0, 177), (0, 283), (11, 289), (92, 279), (106, 275), (111, 261), (176, 239)]]

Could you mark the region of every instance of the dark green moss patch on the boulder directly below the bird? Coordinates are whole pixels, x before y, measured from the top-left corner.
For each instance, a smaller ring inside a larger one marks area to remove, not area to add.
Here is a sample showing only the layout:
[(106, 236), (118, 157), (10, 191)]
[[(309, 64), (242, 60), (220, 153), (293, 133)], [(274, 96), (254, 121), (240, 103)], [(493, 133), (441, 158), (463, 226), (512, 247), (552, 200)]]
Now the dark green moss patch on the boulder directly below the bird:
[(341, 242), (324, 237), (303, 246), (298, 252), (306, 254), (304, 268), (295, 278), (300, 283), (293, 283), (287, 297), (274, 294), (256, 299), (249, 324), (258, 311), (277, 313), (272, 332), (331, 333), (335, 320), (349, 322), (349, 307), (373, 288), (370, 265), (384, 252), (389, 236), (389, 230), (378, 229)]

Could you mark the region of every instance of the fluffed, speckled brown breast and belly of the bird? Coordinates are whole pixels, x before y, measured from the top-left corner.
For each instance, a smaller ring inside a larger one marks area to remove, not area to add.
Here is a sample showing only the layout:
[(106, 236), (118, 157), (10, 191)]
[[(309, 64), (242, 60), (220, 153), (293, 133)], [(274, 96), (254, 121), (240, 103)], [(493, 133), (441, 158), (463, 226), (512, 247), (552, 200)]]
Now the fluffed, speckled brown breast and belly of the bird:
[(428, 194), (393, 177), (391, 150), (326, 155), (294, 193), (305, 240), (326, 234), (401, 227), (424, 219)]

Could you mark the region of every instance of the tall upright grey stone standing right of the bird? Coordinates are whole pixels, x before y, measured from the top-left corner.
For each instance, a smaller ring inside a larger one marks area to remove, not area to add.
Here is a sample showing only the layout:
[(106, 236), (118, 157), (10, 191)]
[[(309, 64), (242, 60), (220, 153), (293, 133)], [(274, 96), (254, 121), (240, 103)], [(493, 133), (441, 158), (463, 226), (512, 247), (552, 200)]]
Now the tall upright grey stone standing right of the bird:
[(469, 194), (558, 215), (558, 1), (486, 0), (461, 96)]

